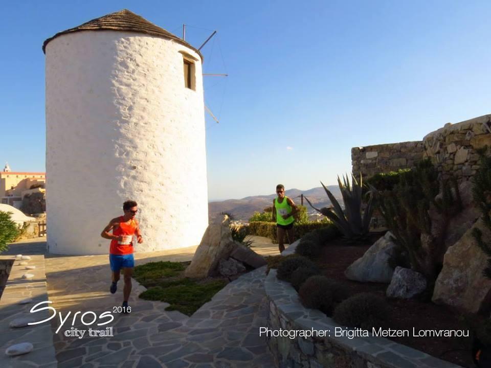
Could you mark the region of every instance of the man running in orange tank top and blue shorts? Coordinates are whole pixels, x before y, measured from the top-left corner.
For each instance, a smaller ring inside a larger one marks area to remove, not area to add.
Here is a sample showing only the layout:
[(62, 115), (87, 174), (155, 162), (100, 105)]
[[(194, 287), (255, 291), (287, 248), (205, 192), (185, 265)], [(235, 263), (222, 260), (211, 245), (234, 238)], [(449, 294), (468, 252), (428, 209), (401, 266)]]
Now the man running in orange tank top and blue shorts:
[[(138, 204), (135, 201), (126, 201), (123, 203), (124, 215), (116, 217), (109, 221), (109, 224), (104, 228), (101, 236), (104, 239), (110, 239), (109, 247), (109, 263), (111, 266), (111, 274), (113, 282), (109, 291), (114, 294), (118, 287), (121, 268), (124, 269), (124, 288), (123, 288), (123, 313), (128, 313), (129, 294), (131, 293), (131, 275), (133, 267), (135, 267), (135, 259), (133, 259), (133, 235), (137, 236), (139, 244), (143, 243), (143, 238), (140, 232), (140, 226), (135, 216), (138, 212)], [(110, 234), (109, 232), (113, 233)]]

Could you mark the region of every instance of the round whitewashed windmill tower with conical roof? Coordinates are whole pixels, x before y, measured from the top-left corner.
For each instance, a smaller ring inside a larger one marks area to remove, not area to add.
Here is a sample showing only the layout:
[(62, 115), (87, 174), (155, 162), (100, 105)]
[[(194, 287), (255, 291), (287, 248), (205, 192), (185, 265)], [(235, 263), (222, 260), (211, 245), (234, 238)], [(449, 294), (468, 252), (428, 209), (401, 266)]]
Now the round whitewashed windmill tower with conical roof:
[(107, 254), (136, 200), (135, 251), (199, 244), (208, 226), (203, 57), (128, 10), (44, 41), (47, 227), (55, 254)]

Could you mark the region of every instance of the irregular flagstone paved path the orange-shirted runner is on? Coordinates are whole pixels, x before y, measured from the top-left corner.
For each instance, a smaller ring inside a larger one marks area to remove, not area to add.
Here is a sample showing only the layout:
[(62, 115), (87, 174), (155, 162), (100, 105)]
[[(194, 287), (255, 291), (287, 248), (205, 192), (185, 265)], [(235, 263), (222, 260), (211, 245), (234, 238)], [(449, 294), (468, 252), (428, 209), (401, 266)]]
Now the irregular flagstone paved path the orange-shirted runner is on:
[[(274, 245), (259, 245), (259, 251), (275, 254)], [(23, 245), (25, 246), (25, 245)], [(256, 248), (257, 249), (257, 248)], [(195, 247), (152, 254), (135, 254), (138, 264), (151, 261), (188, 261)], [(13, 247), (10, 251), (15, 252)], [(276, 251), (277, 253), (277, 251)], [(24, 254), (29, 254), (27, 251)], [(50, 257), (50, 255), (48, 255)], [(58, 367), (124, 367), (124, 368), (206, 368), (271, 367), (273, 358), (259, 327), (265, 326), (264, 268), (243, 275), (217, 293), (213, 300), (191, 317), (177, 311), (165, 311), (166, 303), (140, 300), (145, 289), (133, 280), (127, 315), (115, 313), (114, 320), (100, 318), (92, 326), (81, 324), (80, 316), (93, 311), (99, 316), (121, 305), (122, 282), (118, 291), (108, 292), (108, 256), (71, 256), (46, 259), (49, 299), (65, 318), (70, 316), (53, 341)], [(74, 314), (81, 313), (75, 316)], [(85, 316), (85, 323), (94, 319)], [(73, 326), (72, 326), (73, 322)], [(60, 318), (51, 320), (53, 331)], [(113, 327), (112, 337), (67, 337), (74, 329), (103, 330)]]

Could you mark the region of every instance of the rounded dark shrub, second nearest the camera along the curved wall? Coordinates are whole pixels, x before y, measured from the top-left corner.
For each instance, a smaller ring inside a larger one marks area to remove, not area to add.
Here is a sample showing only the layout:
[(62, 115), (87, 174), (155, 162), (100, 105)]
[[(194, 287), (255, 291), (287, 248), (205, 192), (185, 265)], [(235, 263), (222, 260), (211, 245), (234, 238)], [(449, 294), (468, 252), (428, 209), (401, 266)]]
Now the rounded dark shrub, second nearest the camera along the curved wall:
[(334, 307), (348, 297), (348, 291), (336, 280), (312, 276), (300, 286), (299, 296), (305, 307), (331, 315)]

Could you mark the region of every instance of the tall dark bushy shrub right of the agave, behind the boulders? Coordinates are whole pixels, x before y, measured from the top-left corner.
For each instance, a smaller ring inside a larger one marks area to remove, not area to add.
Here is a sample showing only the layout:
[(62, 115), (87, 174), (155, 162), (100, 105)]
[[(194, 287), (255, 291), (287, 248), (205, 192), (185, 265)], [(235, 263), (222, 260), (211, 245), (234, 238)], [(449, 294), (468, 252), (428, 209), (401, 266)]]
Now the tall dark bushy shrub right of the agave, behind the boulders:
[[(410, 264), (411, 269), (425, 275), (431, 283), (436, 280), (447, 251), (444, 234), (449, 220), (462, 208), (457, 181), (453, 178), (439, 181), (438, 171), (430, 160), (422, 160), (399, 178), (392, 191), (380, 192), (372, 187), (397, 245), (397, 257), (390, 264)], [(440, 189), (441, 198), (435, 198)], [(431, 231), (431, 208), (442, 218), (442, 226), (436, 235)], [(421, 243), (422, 238), (426, 241), (425, 246)]]

